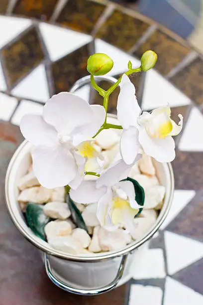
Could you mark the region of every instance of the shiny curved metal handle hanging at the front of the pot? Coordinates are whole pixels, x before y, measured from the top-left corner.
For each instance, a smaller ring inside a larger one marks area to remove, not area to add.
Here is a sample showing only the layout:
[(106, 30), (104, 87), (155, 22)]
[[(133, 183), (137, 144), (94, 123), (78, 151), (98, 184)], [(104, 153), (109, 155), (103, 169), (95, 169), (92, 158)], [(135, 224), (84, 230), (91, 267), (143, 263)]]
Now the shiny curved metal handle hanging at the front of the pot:
[(49, 279), (55, 285), (57, 285), (58, 287), (60, 287), (61, 289), (65, 290), (67, 292), (70, 292), (72, 294), (77, 294), (77, 295), (84, 295), (84, 296), (99, 295), (99, 294), (103, 294), (103, 293), (108, 292), (111, 289), (113, 289), (117, 285), (118, 281), (121, 279), (121, 277), (123, 275), (126, 260), (127, 260), (127, 254), (122, 256), (118, 272), (115, 276), (115, 279), (110, 284), (103, 286), (101, 288), (86, 290), (86, 289), (78, 289), (78, 288), (68, 286), (65, 283), (63, 283), (62, 281), (60, 281), (59, 279), (57, 279), (56, 276), (53, 274), (53, 271), (52, 271), (52, 268), (50, 265), (49, 255), (47, 253), (44, 253), (45, 269), (46, 269), (46, 273), (47, 273)]

